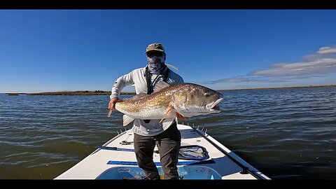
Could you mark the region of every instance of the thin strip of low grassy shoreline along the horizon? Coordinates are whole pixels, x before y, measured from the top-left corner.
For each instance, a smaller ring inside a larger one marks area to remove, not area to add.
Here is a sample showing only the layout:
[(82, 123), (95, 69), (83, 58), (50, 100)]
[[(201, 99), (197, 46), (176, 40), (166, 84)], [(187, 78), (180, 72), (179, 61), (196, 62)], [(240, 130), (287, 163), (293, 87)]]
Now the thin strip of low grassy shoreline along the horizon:
[[(229, 89), (216, 91), (232, 91), (232, 90), (274, 90), (274, 89), (291, 89), (291, 88), (313, 88), (313, 87), (336, 87), (336, 85), (309, 85), (299, 87), (260, 87), (260, 88), (243, 88), (243, 89)], [(10, 96), (19, 94), (25, 95), (111, 95), (111, 91), (59, 91), (59, 92), (6, 92)], [(120, 94), (136, 94), (135, 92), (120, 92)]]

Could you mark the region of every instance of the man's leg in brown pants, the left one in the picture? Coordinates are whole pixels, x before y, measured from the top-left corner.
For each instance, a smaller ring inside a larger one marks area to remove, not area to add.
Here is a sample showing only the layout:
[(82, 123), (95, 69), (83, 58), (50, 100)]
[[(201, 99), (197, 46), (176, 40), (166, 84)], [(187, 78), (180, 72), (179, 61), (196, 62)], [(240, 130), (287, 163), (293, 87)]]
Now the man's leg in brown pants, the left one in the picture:
[(144, 169), (147, 179), (160, 179), (158, 168), (153, 162), (155, 141), (153, 137), (144, 137), (134, 134), (134, 151), (138, 165)]

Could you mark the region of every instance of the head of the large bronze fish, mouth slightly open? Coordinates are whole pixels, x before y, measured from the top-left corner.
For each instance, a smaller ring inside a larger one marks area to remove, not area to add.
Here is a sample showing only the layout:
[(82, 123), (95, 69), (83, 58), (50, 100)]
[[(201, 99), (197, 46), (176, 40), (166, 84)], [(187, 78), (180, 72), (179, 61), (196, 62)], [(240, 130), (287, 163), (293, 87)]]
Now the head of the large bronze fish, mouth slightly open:
[(190, 83), (185, 90), (176, 92), (173, 99), (174, 109), (178, 113), (185, 117), (192, 117), (221, 112), (218, 105), (223, 101), (223, 94), (208, 87)]

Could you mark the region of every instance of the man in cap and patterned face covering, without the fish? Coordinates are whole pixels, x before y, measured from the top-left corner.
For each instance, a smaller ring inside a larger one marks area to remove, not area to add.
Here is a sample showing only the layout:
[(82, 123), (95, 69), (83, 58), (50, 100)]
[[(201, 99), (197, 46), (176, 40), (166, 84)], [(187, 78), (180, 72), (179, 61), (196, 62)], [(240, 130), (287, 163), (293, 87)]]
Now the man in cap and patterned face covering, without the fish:
[[(151, 94), (155, 84), (160, 80), (169, 84), (184, 83), (183, 78), (165, 64), (166, 52), (161, 43), (148, 45), (144, 54), (146, 54), (148, 62), (146, 67), (134, 69), (118, 78), (114, 83), (109, 102), (110, 110), (116, 110), (116, 102), (126, 85), (134, 84), (137, 94)], [(181, 120), (187, 119), (179, 114), (176, 116)], [(134, 120), (132, 132), (134, 132), (134, 151), (138, 165), (144, 169), (146, 179), (160, 179), (158, 169), (153, 162), (156, 144), (160, 153), (164, 179), (179, 179), (176, 165), (181, 146), (181, 133), (177, 129), (175, 121), (165, 130), (159, 122), (160, 120)]]

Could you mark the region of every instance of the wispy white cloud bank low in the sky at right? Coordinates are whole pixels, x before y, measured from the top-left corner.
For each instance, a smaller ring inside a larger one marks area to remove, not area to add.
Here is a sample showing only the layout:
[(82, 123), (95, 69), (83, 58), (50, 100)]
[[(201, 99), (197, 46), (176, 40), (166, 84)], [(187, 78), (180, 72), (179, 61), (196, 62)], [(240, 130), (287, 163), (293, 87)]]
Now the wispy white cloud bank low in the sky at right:
[(207, 81), (207, 84), (240, 82), (286, 82), (336, 72), (336, 46), (322, 47), (302, 62), (271, 64), (269, 69), (251, 71), (245, 76)]

